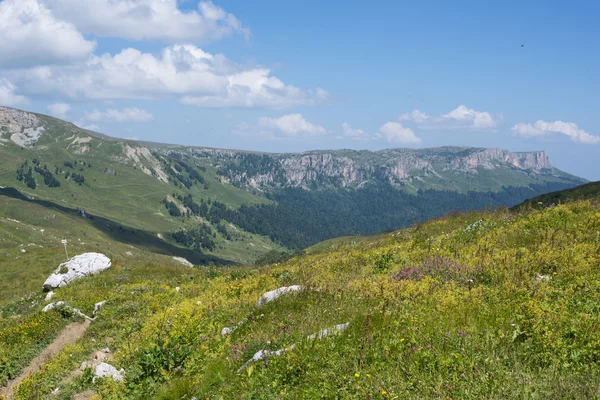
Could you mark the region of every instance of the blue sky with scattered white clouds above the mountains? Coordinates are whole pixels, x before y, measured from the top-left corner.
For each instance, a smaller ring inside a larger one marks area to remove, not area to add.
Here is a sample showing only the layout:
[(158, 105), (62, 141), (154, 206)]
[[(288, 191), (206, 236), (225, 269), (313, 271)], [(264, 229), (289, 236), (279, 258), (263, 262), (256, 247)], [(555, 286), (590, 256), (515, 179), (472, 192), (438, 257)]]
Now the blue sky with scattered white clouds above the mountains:
[(1, 0), (0, 105), (297, 152), (545, 150), (600, 180), (595, 1)]

